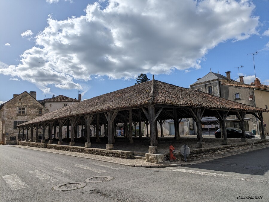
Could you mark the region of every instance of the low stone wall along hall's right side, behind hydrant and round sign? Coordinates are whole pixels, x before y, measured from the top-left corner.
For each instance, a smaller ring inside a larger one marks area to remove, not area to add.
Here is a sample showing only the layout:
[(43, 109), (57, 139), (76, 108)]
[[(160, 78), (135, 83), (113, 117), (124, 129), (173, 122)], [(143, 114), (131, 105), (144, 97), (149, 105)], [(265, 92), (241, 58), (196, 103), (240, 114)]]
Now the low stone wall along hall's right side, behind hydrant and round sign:
[[(253, 145), (253, 144), (264, 143), (264, 142), (269, 142), (269, 140), (257, 140), (255, 142), (247, 142), (247, 143), (242, 142), (240, 144), (223, 145), (223, 146), (212, 147), (212, 148), (190, 149), (190, 154), (189, 154), (189, 157), (187, 158), (198, 157), (198, 156), (202, 156), (202, 155), (206, 155), (210, 153), (216, 153), (218, 151), (231, 150), (231, 149), (241, 148), (247, 145)], [(184, 156), (181, 154), (180, 151), (175, 152), (174, 156), (177, 158), (176, 160), (184, 160)], [(164, 154), (164, 159), (169, 160), (169, 153)]]

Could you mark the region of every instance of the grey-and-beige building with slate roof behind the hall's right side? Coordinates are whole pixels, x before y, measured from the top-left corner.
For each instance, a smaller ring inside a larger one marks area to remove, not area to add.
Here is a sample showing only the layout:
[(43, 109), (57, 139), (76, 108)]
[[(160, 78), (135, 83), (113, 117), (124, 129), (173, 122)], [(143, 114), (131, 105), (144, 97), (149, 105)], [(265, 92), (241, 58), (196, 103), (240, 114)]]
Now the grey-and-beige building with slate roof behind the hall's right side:
[[(226, 76), (223, 76), (209, 72), (202, 78), (198, 78), (196, 82), (190, 85), (190, 88), (241, 104), (268, 109), (269, 86), (262, 85), (258, 78), (251, 84), (245, 84), (244, 76), (239, 76), (240, 82), (237, 82), (231, 79), (230, 73), (230, 71), (227, 71)], [(268, 113), (263, 113), (263, 116), (264, 123), (262, 124), (268, 126)], [(257, 117), (252, 114), (247, 114), (244, 119), (244, 124), (247, 131), (253, 130), (254, 133), (260, 134), (261, 122)], [(228, 116), (226, 126), (240, 128), (240, 121), (236, 116)], [(268, 133), (268, 131), (266, 133)]]

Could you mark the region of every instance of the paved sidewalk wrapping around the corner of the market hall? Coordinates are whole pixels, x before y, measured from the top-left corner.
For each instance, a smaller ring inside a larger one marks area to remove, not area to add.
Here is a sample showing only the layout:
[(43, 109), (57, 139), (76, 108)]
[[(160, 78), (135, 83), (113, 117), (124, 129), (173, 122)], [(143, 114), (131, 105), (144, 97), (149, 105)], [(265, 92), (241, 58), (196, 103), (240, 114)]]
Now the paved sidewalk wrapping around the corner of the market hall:
[(210, 161), (210, 160), (219, 159), (223, 157), (228, 157), (228, 156), (232, 156), (236, 154), (241, 154), (248, 151), (263, 149), (263, 148), (269, 147), (269, 143), (266, 142), (266, 143), (248, 145), (248, 146), (241, 147), (240, 149), (237, 148), (237, 149), (232, 149), (229, 151), (220, 151), (220, 152), (207, 154), (207, 155), (203, 155), (199, 157), (193, 157), (191, 159), (187, 159), (187, 163), (184, 161), (165, 161), (163, 163), (149, 163), (149, 162), (146, 162), (145, 160), (139, 160), (139, 159), (122, 159), (122, 158), (116, 158), (116, 157), (99, 156), (99, 155), (94, 155), (94, 154), (83, 154), (83, 153), (78, 153), (78, 152), (43, 149), (43, 148), (20, 146), (20, 145), (16, 145), (14, 147), (45, 151), (45, 152), (51, 152), (51, 153), (56, 153), (56, 154), (64, 154), (64, 155), (70, 155), (70, 156), (75, 156), (75, 157), (88, 158), (92, 160), (116, 163), (116, 164), (121, 164), (125, 166), (145, 167), (145, 168), (164, 168), (164, 167), (175, 167), (175, 166), (187, 166), (187, 165), (202, 163), (205, 161)]

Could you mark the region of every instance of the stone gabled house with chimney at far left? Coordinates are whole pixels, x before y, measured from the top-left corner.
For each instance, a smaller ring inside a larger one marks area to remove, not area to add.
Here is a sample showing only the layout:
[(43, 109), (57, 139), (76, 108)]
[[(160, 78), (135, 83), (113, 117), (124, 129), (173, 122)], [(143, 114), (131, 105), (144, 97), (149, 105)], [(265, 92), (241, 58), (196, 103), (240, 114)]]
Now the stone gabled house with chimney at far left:
[[(45, 113), (46, 108), (36, 100), (35, 91), (30, 91), (30, 94), (26, 91), (19, 95), (14, 94), (11, 100), (0, 105), (0, 142), (3, 144), (16, 144), (19, 138), (17, 125)], [(36, 129), (34, 132), (36, 133)], [(42, 134), (42, 130), (40, 130), (39, 134)]]

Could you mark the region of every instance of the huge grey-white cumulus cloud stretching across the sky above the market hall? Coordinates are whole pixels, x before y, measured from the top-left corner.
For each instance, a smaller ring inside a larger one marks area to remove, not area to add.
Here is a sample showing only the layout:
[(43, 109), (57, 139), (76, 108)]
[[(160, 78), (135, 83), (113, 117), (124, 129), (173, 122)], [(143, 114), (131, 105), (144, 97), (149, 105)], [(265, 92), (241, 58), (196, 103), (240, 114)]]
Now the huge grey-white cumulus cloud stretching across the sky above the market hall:
[(95, 2), (84, 16), (49, 16), (48, 26), (35, 37), (36, 47), (21, 55), (19, 65), (0, 73), (42, 89), (71, 89), (81, 88), (74, 80), (198, 69), (208, 50), (219, 43), (257, 34), (254, 9), (247, 0), (111, 0), (105, 8)]

